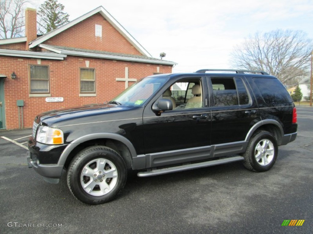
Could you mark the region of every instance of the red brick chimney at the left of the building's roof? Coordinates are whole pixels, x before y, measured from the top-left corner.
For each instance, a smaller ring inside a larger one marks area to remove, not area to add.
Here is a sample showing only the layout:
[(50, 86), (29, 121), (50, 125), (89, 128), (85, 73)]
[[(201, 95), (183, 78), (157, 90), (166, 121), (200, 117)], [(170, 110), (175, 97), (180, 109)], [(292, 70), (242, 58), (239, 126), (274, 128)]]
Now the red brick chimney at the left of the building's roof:
[(37, 38), (37, 12), (36, 9), (26, 8), (25, 9), (25, 36), (26, 50), (28, 50), (28, 43)]

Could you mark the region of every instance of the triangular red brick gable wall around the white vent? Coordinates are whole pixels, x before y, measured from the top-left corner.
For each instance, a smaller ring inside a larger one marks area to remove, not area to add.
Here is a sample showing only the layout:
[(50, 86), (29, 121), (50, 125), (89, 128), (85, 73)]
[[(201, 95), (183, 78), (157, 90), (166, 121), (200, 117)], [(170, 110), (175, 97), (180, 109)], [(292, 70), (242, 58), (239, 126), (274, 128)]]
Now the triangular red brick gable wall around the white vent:
[[(95, 36), (96, 24), (102, 25), (102, 37)], [(43, 44), (141, 55), (100, 13), (51, 37)]]

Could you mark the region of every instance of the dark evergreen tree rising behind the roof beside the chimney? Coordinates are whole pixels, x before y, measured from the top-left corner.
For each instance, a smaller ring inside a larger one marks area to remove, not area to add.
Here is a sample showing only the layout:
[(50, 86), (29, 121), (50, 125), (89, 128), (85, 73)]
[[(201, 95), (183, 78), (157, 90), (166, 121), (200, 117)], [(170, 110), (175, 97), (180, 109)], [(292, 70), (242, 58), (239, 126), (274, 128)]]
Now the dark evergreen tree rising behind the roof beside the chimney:
[(40, 5), (37, 15), (38, 31), (42, 34), (69, 22), (69, 14), (64, 12), (64, 5), (57, 0), (46, 0)]

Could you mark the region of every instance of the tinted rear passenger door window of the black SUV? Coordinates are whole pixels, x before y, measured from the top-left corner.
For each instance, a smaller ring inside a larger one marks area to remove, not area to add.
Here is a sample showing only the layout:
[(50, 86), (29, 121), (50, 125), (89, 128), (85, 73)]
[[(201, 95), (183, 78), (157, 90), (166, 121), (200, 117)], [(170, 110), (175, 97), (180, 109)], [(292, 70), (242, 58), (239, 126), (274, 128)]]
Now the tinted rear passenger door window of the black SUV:
[(247, 89), (240, 78), (212, 77), (211, 82), (215, 106), (249, 104)]

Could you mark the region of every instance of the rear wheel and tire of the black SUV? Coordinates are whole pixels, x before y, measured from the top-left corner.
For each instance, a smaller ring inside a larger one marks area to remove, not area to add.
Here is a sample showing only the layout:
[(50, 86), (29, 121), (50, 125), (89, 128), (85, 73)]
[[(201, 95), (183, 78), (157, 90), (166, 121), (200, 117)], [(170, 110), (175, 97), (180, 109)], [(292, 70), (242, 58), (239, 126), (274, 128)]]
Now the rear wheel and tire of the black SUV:
[(243, 154), (244, 166), (256, 172), (268, 171), (275, 164), (278, 144), (274, 136), (267, 131), (259, 131), (252, 136)]

